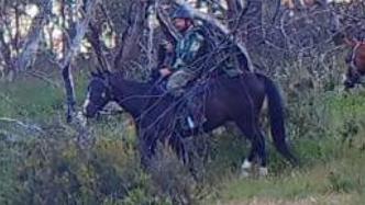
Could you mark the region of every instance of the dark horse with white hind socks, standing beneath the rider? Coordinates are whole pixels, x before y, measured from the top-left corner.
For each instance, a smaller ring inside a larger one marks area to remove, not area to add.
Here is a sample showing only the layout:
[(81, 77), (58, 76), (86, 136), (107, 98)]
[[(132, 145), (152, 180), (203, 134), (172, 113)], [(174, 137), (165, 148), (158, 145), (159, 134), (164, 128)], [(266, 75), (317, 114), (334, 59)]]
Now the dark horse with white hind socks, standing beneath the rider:
[[(203, 132), (209, 133), (231, 121), (252, 141), (251, 152), (242, 164), (243, 171), (250, 169), (257, 158), (261, 173), (267, 173), (265, 138), (258, 119), (265, 96), (268, 99), (274, 145), (288, 161), (297, 163), (286, 141), (281, 96), (270, 79), (259, 73), (244, 73), (236, 78), (218, 76), (185, 93), (187, 95), (197, 90), (200, 90), (196, 93), (201, 96), (207, 119), (200, 127)], [(184, 99), (170, 96), (154, 82), (137, 82), (126, 80), (119, 73), (103, 72), (92, 75), (84, 114), (93, 117), (108, 102), (120, 104), (134, 118), (142, 163), (147, 166), (158, 140), (168, 141), (178, 156), (185, 155), (181, 139), (195, 132), (179, 127), (179, 101)]]

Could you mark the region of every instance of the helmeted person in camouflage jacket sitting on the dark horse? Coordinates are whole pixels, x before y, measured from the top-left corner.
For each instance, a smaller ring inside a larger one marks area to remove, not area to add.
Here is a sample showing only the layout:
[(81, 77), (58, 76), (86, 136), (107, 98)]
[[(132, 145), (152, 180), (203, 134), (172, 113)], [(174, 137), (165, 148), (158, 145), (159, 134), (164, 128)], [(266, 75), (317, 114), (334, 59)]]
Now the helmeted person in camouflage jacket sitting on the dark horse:
[[(166, 90), (175, 98), (179, 98), (184, 93), (184, 88), (193, 80), (198, 79), (203, 72), (207, 71), (207, 58), (203, 58), (209, 52), (212, 52), (212, 41), (206, 34), (206, 27), (197, 25), (193, 22), (193, 16), (185, 7), (179, 7), (173, 14), (174, 26), (182, 35), (176, 44), (176, 47), (170, 50), (173, 44), (165, 43), (167, 56), (166, 59), (161, 59), (159, 75), (167, 78)], [(174, 54), (173, 54), (174, 53)], [(174, 57), (173, 57), (174, 56)], [(170, 65), (166, 64), (169, 61)], [(237, 76), (242, 71), (235, 69), (234, 65), (229, 65), (232, 60), (225, 60), (221, 67), (229, 76)], [(231, 69), (234, 68), (234, 69)], [(190, 114), (187, 116), (187, 122), (190, 128), (195, 128), (198, 123), (198, 117), (191, 114), (192, 100), (188, 100), (187, 109)]]

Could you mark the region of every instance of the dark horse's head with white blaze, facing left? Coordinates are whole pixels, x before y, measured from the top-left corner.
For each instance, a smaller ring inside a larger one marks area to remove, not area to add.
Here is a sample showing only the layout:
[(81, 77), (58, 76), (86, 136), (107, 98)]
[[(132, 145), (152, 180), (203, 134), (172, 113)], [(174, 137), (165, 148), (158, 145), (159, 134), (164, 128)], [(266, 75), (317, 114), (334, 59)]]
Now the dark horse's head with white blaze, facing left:
[(86, 117), (95, 117), (112, 100), (109, 76), (109, 72), (91, 72), (82, 110)]

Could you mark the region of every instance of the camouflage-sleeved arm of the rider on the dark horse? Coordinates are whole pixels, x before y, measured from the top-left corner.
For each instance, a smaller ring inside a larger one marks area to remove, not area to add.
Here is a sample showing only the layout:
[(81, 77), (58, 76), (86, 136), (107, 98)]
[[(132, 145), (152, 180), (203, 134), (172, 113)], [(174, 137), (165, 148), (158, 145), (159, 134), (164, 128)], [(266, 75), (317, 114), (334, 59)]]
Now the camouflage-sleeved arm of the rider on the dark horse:
[[(203, 36), (197, 32), (190, 33), (187, 36), (186, 44), (181, 48), (180, 55), (177, 56), (175, 64), (173, 65), (173, 70), (179, 70), (180, 68), (186, 68), (187, 65), (190, 65), (197, 58), (199, 49), (203, 45)], [(193, 68), (187, 68), (193, 69)]]

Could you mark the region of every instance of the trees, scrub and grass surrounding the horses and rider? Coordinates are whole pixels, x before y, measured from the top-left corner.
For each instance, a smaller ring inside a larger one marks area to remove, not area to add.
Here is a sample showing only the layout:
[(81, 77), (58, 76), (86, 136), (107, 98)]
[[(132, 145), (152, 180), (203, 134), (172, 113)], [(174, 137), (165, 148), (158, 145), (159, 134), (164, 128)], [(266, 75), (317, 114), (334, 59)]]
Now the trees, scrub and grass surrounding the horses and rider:
[(300, 168), (267, 137), (270, 175), (237, 179), (250, 147), (228, 128), (187, 139), (208, 156), (197, 158), (196, 179), (161, 147), (146, 172), (128, 114), (88, 128), (66, 123), (65, 89), (73, 114), (89, 70), (147, 79), (159, 43), (178, 37), (169, 19), (178, 3), (186, 2), (0, 0), (0, 204), (362, 204), (364, 91), (340, 92), (350, 49), (331, 39), (336, 32), (364, 39), (361, 0), (188, 2), (197, 22), (242, 46), (280, 87)]

